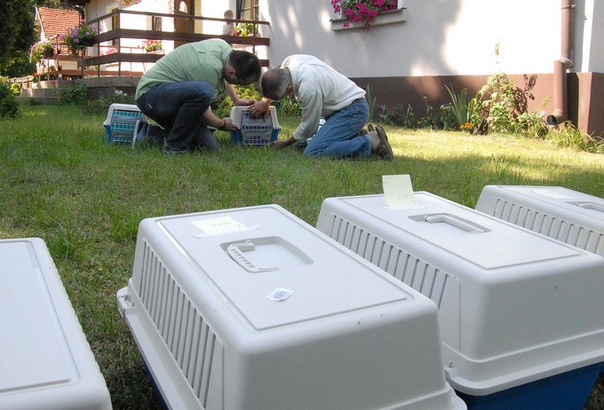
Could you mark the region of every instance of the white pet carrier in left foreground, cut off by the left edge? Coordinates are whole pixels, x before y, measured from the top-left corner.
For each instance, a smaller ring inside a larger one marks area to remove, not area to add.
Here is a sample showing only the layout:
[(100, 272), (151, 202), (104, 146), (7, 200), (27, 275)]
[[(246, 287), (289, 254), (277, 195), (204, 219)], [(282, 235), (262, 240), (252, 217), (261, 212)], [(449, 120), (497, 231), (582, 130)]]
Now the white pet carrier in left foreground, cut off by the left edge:
[(0, 240), (0, 280), (0, 408), (111, 409), (44, 241)]

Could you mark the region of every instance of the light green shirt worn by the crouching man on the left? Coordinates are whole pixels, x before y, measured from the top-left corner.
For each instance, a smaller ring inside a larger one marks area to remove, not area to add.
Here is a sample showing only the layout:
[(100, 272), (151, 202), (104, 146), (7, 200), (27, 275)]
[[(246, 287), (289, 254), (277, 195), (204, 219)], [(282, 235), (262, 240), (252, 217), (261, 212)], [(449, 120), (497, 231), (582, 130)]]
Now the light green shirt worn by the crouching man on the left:
[(203, 81), (211, 84), (216, 96), (224, 94), (223, 67), (231, 51), (231, 46), (219, 38), (183, 44), (157, 60), (142, 76), (135, 99), (160, 83), (184, 81)]

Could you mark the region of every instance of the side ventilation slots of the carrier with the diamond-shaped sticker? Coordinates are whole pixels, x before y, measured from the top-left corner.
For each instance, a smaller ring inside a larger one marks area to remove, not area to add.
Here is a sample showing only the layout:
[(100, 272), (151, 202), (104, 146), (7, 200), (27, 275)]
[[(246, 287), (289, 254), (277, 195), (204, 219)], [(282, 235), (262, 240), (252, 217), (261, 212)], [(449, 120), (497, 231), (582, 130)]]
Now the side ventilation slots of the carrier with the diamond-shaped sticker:
[(142, 269), (140, 300), (205, 408), (219, 340), (147, 243)]

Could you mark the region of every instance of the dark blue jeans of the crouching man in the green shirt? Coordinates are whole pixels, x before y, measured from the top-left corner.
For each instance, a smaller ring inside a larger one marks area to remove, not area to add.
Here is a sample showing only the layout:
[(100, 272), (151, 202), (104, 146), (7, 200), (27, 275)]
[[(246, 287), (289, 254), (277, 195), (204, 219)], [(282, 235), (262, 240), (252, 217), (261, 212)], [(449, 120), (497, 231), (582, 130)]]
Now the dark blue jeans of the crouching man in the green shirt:
[(216, 150), (219, 143), (203, 120), (213, 97), (214, 89), (209, 83), (161, 83), (143, 94), (136, 104), (163, 127), (164, 146), (177, 151), (201, 147)]

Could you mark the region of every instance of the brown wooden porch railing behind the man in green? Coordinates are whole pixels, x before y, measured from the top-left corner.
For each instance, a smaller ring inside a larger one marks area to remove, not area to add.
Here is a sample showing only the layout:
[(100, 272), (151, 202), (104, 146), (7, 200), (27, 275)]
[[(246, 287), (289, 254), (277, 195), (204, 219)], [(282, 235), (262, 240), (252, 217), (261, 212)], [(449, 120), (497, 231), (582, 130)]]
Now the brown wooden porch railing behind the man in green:
[[(122, 28), (121, 20), (123, 15), (139, 15), (149, 16), (155, 18), (167, 18), (173, 19), (174, 27), (177, 27), (177, 21), (186, 20), (186, 24), (180, 24), (186, 27), (186, 31), (155, 31), (155, 30), (139, 30), (131, 28)], [(103, 31), (102, 26), (112, 27), (112, 20), (115, 19), (115, 28)], [(227, 22), (232, 21), (234, 24), (237, 23), (251, 23), (254, 26), (253, 35), (250, 36), (238, 36), (238, 35), (214, 35), (204, 34), (195, 32), (196, 21), (220, 21)], [(130, 12), (125, 10), (115, 10), (101, 16), (97, 19), (87, 21), (91, 27), (97, 28), (98, 35), (94, 35), (93, 47), (96, 47), (96, 56), (82, 55), (78, 59), (77, 67), (80, 69), (86, 69), (87, 67), (97, 67), (98, 75), (101, 75), (101, 66), (107, 64), (117, 64), (117, 75), (123, 75), (122, 64), (123, 63), (155, 63), (158, 59), (163, 56), (161, 54), (152, 54), (145, 52), (132, 52), (132, 47), (122, 47), (121, 43), (123, 39), (140, 39), (140, 40), (162, 40), (162, 41), (174, 41), (175, 43), (193, 43), (210, 38), (222, 38), (227, 43), (232, 45), (247, 45), (251, 46), (252, 52), (256, 52), (256, 47), (265, 46), (267, 47), (270, 43), (270, 39), (261, 37), (258, 35), (258, 27), (261, 25), (268, 25), (267, 21), (258, 20), (224, 20), (216, 19), (211, 17), (198, 17), (190, 16), (187, 14), (166, 14), (156, 12)], [(115, 48), (116, 52), (102, 55), (104, 48), (108, 47), (103, 43), (111, 43), (109, 47)], [(128, 50), (129, 52), (124, 52)], [(261, 64), (264, 67), (268, 67), (268, 60), (261, 59)], [(131, 75), (131, 72), (127, 72)]]

